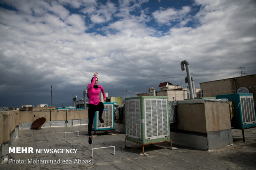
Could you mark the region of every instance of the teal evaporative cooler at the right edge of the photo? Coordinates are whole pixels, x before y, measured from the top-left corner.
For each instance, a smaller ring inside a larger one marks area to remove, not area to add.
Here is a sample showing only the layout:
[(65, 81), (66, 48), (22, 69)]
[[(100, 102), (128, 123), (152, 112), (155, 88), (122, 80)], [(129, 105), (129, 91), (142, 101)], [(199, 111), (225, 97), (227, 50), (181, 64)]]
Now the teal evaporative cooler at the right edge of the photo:
[(234, 102), (234, 117), (231, 120), (231, 127), (243, 129), (256, 126), (252, 93), (216, 95), (216, 99), (220, 98), (227, 98)]

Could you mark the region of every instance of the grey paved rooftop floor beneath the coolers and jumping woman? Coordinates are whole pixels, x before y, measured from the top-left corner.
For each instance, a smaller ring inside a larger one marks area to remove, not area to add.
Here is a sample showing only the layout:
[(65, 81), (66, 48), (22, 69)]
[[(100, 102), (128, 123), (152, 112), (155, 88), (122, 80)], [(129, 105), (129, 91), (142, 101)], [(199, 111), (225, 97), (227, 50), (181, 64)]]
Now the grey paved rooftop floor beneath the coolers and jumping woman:
[[(68, 170), (68, 169), (95, 169), (95, 170), (239, 170), (256, 169), (256, 128), (244, 130), (246, 143), (243, 143), (242, 130), (232, 129), (233, 145), (213, 151), (181, 147), (173, 144), (177, 149), (167, 149), (170, 142), (150, 144), (145, 146), (145, 153), (140, 155), (142, 146), (127, 141), (125, 134), (109, 131), (97, 131), (88, 144), (88, 126), (68, 126), (41, 128), (39, 130), (21, 129), (19, 137), (14, 140), (11, 147), (33, 147), (34, 154), (10, 154), (10, 158), (17, 163), (1, 164), (0, 169), (6, 170)], [(66, 133), (75, 132), (78, 133)], [(189, 140), (189, 139), (188, 139)], [(92, 148), (109, 147), (93, 150)], [(76, 153), (36, 153), (36, 149), (77, 149)], [(23, 160), (24, 163), (19, 163)], [(66, 163), (31, 163), (28, 161), (43, 160), (69, 160)], [(79, 163), (84, 161), (83, 163)], [(71, 161), (71, 163), (70, 163)], [(92, 163), (90, 162), (92, 161)], [(87, 163), (86, 163), (87, 162)]]

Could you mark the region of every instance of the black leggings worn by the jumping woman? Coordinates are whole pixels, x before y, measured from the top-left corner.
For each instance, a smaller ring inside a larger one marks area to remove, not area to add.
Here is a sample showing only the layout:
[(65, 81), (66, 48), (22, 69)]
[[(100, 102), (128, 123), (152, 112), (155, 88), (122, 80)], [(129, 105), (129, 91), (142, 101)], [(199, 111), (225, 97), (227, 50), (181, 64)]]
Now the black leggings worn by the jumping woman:
[(92, 135), (92, 123), (93, 123), (93, 119), (95, 116), (95, 112), (99, 111), (99, 118), (102, 117), (102, 113), (103, 113), (103, 109), (104, 109), (104, 104), (103, 102), (99, 102), (98, 105), (93, 105), (93, 104), (89, 104), (88, 106), (88, 119), (89, 119), (89, 123), (88, 123), (88, 135), (91, 136)]

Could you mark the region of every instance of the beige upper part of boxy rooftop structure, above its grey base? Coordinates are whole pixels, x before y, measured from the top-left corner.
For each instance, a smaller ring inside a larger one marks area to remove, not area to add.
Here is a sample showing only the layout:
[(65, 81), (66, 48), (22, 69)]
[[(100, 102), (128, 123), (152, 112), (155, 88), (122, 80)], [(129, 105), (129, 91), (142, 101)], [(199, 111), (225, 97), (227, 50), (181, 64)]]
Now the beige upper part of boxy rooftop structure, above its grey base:
[(231, 129), (229, 103), (178, 104), (178, 123), (171, 128), (199, 133)]

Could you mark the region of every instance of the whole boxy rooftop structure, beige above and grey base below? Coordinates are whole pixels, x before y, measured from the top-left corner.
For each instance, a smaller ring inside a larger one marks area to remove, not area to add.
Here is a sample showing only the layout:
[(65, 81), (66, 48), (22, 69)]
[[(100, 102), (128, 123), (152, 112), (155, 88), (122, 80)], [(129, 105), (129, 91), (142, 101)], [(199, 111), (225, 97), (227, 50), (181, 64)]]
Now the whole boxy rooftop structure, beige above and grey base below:
[(233, 143), (227, 99), (177, 102), (178, 122), (170, 129), (174, 144), (212, 150)]

